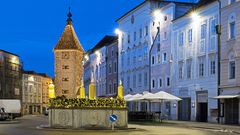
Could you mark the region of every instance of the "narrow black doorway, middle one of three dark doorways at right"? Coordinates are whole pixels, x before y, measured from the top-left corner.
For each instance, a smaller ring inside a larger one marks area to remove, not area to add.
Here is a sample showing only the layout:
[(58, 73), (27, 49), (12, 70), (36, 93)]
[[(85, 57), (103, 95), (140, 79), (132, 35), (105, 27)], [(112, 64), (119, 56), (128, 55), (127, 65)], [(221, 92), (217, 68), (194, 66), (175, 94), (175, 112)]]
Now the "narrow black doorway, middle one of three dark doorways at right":
[(208, 105), (207, 103), (198, 103), (197, 105), (197, 121), (207, 122), (208, 117)]

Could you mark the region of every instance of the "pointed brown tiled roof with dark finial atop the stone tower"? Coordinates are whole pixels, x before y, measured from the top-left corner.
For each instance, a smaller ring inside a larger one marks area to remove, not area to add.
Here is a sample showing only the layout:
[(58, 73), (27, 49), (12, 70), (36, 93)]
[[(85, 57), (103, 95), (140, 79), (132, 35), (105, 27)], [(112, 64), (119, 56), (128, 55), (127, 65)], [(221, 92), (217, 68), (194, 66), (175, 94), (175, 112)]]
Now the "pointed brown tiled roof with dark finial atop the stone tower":
[(78, 40), (77, 34), (75, 33), (71, 17), (72, 14), (69, 8), (66, 26), (54, 50), (74, 49), (84, 51), (81, 43)]

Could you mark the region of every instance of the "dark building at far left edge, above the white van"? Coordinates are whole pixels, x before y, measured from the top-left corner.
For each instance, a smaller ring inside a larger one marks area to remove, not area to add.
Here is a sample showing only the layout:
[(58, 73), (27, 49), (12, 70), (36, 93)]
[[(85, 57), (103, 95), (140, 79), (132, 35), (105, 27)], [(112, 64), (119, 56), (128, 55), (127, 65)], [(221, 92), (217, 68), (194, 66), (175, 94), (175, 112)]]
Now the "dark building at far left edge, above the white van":
[(0, 99), (21, 99), (22, 63), (18, 55), (0, 50)]

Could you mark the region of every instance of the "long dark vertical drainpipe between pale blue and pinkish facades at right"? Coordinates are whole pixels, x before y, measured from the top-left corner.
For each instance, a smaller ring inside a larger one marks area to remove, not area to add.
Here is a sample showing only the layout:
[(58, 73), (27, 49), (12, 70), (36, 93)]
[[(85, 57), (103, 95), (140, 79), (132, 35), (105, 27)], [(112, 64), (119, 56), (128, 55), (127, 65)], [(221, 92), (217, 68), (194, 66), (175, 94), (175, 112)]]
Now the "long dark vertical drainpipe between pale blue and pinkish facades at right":
[[(218, 92), (218, 96), (220, 95), (220, 79), (221, 79), (221, 0), (217, 0), (219, 3), (219, 19), (218, 19), (218, 25), (216, 26), (216, 32), (217, 32), (217, 44), (218, 44), (218, 74), (217, 74), (217, 82), (218, 82), (218, 88), (217, 88), (217, 92)], [(218, 123), (220, 124), (220, 99), (218, 99)]]

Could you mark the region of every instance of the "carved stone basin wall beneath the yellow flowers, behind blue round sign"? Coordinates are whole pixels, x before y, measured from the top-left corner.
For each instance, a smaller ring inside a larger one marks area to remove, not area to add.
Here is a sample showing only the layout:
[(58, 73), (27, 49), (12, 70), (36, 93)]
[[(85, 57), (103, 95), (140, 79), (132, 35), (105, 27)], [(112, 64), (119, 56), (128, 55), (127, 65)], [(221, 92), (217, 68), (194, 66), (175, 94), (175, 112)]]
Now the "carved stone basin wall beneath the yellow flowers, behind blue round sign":
[(70, 129), (110, 129), (109, 116), (115, 114), (118, 120), (116, 128), (127, 128), (127, 109), (81, 108), (81, 109), (49, 109), (49, 125), (51, 128)]

